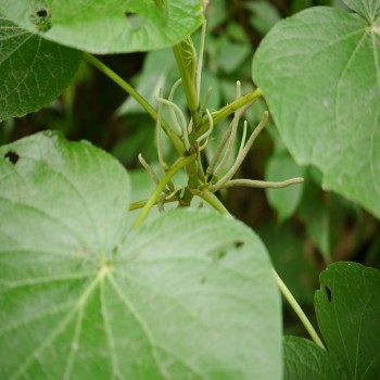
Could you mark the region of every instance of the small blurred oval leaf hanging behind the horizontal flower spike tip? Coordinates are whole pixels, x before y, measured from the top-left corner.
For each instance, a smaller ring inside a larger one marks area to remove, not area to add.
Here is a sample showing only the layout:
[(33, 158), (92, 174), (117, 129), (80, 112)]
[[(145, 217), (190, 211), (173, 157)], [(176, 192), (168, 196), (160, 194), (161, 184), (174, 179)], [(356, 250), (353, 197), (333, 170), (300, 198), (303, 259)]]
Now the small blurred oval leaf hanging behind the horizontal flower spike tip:
[[(300, 167), (287, 154), (271, 156), (265, 167), (265, 180), (281, 181), (294, 177), (300, 177)], [(278, 212), (279, 220), (291, 217), (302, 195), (303, 185), (294, 185), (286, 189), (266, 189), (270, 206)]]

